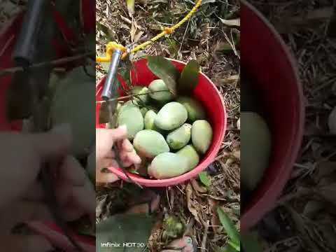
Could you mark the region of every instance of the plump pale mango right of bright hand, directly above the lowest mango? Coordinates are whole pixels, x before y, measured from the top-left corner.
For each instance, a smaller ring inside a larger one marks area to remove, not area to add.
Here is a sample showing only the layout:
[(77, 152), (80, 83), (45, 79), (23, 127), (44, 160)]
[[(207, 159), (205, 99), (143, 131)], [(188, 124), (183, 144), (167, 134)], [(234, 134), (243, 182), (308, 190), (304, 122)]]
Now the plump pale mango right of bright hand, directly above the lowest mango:
[(155, 130), (141, 130), (133, 141), (133, 146), (142, 157), (155, 158), (160, 153), (169, 152), (165, 138)]

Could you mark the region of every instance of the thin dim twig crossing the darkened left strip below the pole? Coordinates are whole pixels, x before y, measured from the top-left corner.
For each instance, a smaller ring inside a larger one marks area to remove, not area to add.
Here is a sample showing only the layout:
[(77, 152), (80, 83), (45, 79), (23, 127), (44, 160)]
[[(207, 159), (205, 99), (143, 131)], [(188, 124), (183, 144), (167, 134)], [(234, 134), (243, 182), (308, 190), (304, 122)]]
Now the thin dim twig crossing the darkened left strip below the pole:
[[(64, 57), (62, 59), (55, 59), (55, 60), (52, 60), (50, 62), (40, 62), (40, 63), (32, 64), (31, 66), (29, 66), (29, 69), (36, 69), (36, 68), (39, 68), (39, 67), (49, 66), (49, 65), (57, 66), (59, 64), (72, 62), (72, 61), (75, 61), (75, 60), (78, 60), (78, 59), (83, 59), (83, 58), (85, 58), (87, 56), (90, 56), (90, 55), (94, 55), (94, 52), (85, 52), (82, 55)], [(15, 72), (18, 72), (18, 71), (23, 71), (22, 67), (17, 66), (17, 67), (12, 67), (12, 68), (9, 68), (9, 69), (2, 69), (2, 70), (0, 70), (0, 76), (15, 73)]]

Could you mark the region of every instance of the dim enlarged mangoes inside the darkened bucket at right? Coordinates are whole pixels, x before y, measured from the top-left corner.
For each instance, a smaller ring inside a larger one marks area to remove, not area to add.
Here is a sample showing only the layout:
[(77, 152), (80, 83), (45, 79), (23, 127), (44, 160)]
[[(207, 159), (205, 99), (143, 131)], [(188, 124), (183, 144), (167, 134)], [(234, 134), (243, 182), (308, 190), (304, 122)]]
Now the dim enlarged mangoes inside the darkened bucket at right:
[(272, 135), (256, 97), (252, 83), (241, 78), (241, 186), (249, 192), (262, 180), (272, 151)]

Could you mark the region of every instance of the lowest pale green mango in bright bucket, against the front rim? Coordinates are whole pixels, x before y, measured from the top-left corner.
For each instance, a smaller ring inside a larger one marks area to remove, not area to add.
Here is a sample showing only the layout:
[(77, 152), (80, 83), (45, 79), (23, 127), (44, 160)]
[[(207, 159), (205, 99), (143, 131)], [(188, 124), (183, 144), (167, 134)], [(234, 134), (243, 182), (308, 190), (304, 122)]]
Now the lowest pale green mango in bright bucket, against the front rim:
[(157, 155), (148, 167), (148, 174), (155, 179), (170, 179), (188, 171), (189, 163), (176, 153), (161, 153)]

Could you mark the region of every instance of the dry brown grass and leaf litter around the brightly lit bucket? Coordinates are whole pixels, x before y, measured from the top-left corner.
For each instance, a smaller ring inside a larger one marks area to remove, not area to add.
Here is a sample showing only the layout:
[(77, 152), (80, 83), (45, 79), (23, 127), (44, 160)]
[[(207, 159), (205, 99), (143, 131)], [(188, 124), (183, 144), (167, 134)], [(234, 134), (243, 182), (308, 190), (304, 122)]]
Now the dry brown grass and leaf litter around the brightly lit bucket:
[[(102, 55), (104, 45), (109, 40), (127, 45), (133, 42), (133, 37), (153, 37), (160, 32), (161, 27), (181, 20), (192, 7), (190, 1), (138, 1), (132, 21), (125, 2), (96, 1), (97, 22), (101, 24), (97, 32), (98, 55)], [(163, 213), (176, 216), (182, 223), (187, 224), (186, 232), (193, 235), (197, 247), (201, 248), (203, 243), (205, 250), (202, 251), (218, 251), (227, 239), (225, 232), (220, 228), (216, 207), (222, 207), (239, 227), (239, 51), (235, 53), (228, 43), (232, 43), (233, 36), (239, 31), (226, 27), (218, 18), (225, 18), (223, 13), (228, 18), (237, 15), (239, 1), (218, 1), (212, 6), (216, 6), (217, 9), (203, 6), (188, 24), (183, 25), (171, 37), (132, 55), (132, 60), (143, 55), (162, 55), (184, 62), (197, 59), (202, 71), (218, 86), (228, 110), (228, 132), (218, 158), (208, 169), (211, 174), (211, 186), (204, 190), (202, 183), (195, 180), (165, 189), (160, 204), (158, 228), (149, 242), (151, 251), (160, 251), (169, 242), (162, 239), (164, 230), (160, 216), (163, 216)], [(109, 31), (102, 25), (109, 28)], [(99, 77), (104, 75), (102, 68), (97, 67), (97, 71)], [(104, 192), (99, 194), (99, 199), (106, 200), (106, 197), (111, 197), (115, 191), (116, 188), (105, 188)], [(104, 204), (111, 203), (107, 200)]]

